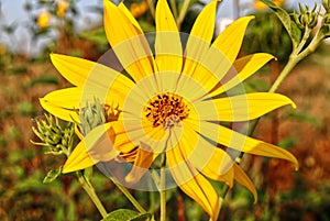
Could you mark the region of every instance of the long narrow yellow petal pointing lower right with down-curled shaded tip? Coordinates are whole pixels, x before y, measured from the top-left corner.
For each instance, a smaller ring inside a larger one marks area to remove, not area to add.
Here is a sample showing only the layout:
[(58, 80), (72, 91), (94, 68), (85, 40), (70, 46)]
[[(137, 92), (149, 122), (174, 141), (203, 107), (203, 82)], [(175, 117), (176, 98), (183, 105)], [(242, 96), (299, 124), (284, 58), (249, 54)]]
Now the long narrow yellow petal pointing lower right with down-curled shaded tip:
[(286, 159), (298, 169), (296, 157), (284, 148), (249, 137), (216, 123), (201, 122), (200, 128), (202, 135), (224, 146), (249, 154)]

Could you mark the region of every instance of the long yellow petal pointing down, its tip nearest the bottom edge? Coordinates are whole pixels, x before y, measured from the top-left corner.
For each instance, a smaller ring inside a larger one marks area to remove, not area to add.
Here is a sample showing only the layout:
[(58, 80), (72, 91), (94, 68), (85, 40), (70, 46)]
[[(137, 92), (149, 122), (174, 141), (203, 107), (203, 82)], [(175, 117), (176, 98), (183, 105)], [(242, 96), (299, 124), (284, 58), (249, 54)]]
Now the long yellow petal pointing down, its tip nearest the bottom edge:
[(173, 178), (179, 188), (197, 201), (216, 221), (219, 213), (219, 198), (212, 185), (187, 162), (176, 146), (166, 153)]

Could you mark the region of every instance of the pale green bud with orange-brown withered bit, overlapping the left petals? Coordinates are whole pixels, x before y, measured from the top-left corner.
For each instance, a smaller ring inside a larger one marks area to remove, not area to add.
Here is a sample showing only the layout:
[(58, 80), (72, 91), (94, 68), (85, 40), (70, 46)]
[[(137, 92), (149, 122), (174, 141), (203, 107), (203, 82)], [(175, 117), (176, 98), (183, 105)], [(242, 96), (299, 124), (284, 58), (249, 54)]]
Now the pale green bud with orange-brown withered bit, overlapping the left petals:
[(95, 98), (94, 102), (87, 102), (86, 107), (79, 111), (79, 130), (82, 135), (86, 135), (98, 125), (116, 121), (119, 114), (120, 111), (118, 107), (113, 108), (111, 106), (101, 104), (100, 101)]

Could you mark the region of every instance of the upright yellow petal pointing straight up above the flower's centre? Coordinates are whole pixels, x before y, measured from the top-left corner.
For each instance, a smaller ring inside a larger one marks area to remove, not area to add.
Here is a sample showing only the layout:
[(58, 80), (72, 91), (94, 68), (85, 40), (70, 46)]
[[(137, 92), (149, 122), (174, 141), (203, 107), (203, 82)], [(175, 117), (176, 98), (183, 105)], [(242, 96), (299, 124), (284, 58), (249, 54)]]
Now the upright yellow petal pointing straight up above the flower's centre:
[(166, 0), (158, 0), (155, 16), (155, 52), (158, 70), (180, 73), (183, 66), (182, 42)]

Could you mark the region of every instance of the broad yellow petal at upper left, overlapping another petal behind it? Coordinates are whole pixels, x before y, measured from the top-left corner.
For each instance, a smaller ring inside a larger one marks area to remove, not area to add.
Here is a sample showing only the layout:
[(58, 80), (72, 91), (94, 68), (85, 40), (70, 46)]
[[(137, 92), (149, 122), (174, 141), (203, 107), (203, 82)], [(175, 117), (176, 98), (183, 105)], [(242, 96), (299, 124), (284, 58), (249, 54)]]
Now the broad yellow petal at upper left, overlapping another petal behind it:
[(154, 59), (148, 43), (128, 16), (123, 5), (105, 0), (105, 30), (108, 41), (121, 65), (135, 81), (154, 73)]

